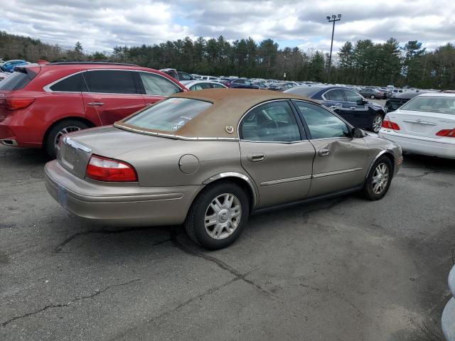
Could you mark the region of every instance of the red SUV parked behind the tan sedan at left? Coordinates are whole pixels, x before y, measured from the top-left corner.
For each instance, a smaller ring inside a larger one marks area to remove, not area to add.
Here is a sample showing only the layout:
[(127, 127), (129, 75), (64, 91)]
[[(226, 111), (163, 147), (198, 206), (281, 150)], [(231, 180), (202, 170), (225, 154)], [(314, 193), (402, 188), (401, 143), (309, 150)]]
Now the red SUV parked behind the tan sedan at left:
[(47, 63), (16, 67), (0, 82), (0, 141), (45, 148), (60, 136), (113, 124), (186, 87), (164, 72), (119, 63)]

